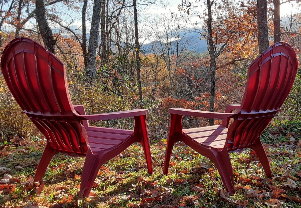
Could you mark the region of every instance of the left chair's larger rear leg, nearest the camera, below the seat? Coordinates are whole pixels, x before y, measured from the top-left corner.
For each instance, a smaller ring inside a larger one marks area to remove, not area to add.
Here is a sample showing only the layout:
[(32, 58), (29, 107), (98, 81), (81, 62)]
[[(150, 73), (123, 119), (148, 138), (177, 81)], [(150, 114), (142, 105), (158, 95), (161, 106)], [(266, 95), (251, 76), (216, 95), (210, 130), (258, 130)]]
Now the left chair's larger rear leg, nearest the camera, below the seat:
[(94, 181), (97, 177), (97, 173), (100, 167), (104, 164), (102, 160), (103, 154), (92, 154), (88, 150), (84, 168), (82, 170), (82, 180), (80, 183), (79, 199), (88, 197), (93, 187)]

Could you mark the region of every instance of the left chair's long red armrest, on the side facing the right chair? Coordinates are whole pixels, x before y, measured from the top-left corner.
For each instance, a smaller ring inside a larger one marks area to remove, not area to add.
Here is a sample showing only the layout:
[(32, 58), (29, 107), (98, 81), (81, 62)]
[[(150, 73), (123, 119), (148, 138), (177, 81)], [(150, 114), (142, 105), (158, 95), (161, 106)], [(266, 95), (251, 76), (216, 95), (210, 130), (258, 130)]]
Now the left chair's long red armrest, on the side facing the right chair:
[(148, 115), (148, 110), (146, 109), (134, 109), (134, 110), (125, 110), (119, 112), (112, 113), (100, 113), (94, 115), (77, 115), (82, 119), (90, 120), (90, 121), (101, 121), (101, 120), (111, 120), (111, 119), (119, 119), (119, 118), (129, 118), (135, 116)]

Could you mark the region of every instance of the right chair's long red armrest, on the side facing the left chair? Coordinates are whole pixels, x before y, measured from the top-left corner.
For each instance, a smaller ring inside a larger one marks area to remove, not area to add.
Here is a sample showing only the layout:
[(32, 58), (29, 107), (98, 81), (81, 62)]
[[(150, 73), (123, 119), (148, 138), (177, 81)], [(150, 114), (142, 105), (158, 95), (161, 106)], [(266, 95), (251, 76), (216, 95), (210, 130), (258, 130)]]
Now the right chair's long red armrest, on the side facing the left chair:
[(234, 113), (216, 113), (216, 112), (209, 112), (203, 110), (191, 110), (185, 108), (170, 108), (168, 110), (168, 113), (182, 115), (182, 116), (194, 116), (194, 117), (216, 118), (216, 119), (229, 118), (234, 115)]

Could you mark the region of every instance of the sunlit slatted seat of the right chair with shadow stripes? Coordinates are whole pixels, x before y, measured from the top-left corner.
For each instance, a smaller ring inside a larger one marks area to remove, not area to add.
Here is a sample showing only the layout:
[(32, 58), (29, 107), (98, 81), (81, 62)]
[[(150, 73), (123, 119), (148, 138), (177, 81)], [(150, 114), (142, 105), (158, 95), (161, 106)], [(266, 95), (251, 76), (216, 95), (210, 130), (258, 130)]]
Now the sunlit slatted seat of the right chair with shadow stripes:
[(197, 144), (222, 149), (227, 141), (228, 129), (222, 125), (183, 129), (183, 133)]

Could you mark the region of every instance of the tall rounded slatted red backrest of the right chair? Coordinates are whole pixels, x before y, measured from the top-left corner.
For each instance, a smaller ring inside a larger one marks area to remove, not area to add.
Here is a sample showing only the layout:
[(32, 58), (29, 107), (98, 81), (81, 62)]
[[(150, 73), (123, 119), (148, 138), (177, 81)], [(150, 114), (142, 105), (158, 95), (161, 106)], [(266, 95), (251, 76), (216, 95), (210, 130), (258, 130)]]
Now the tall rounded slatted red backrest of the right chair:
[(275, 43), (253, 61), (244, 98), (228, 129), (229, 151), (251, 147), (260, 138), (290, 93), (297, 67), (296, 53), (286, 42)]

